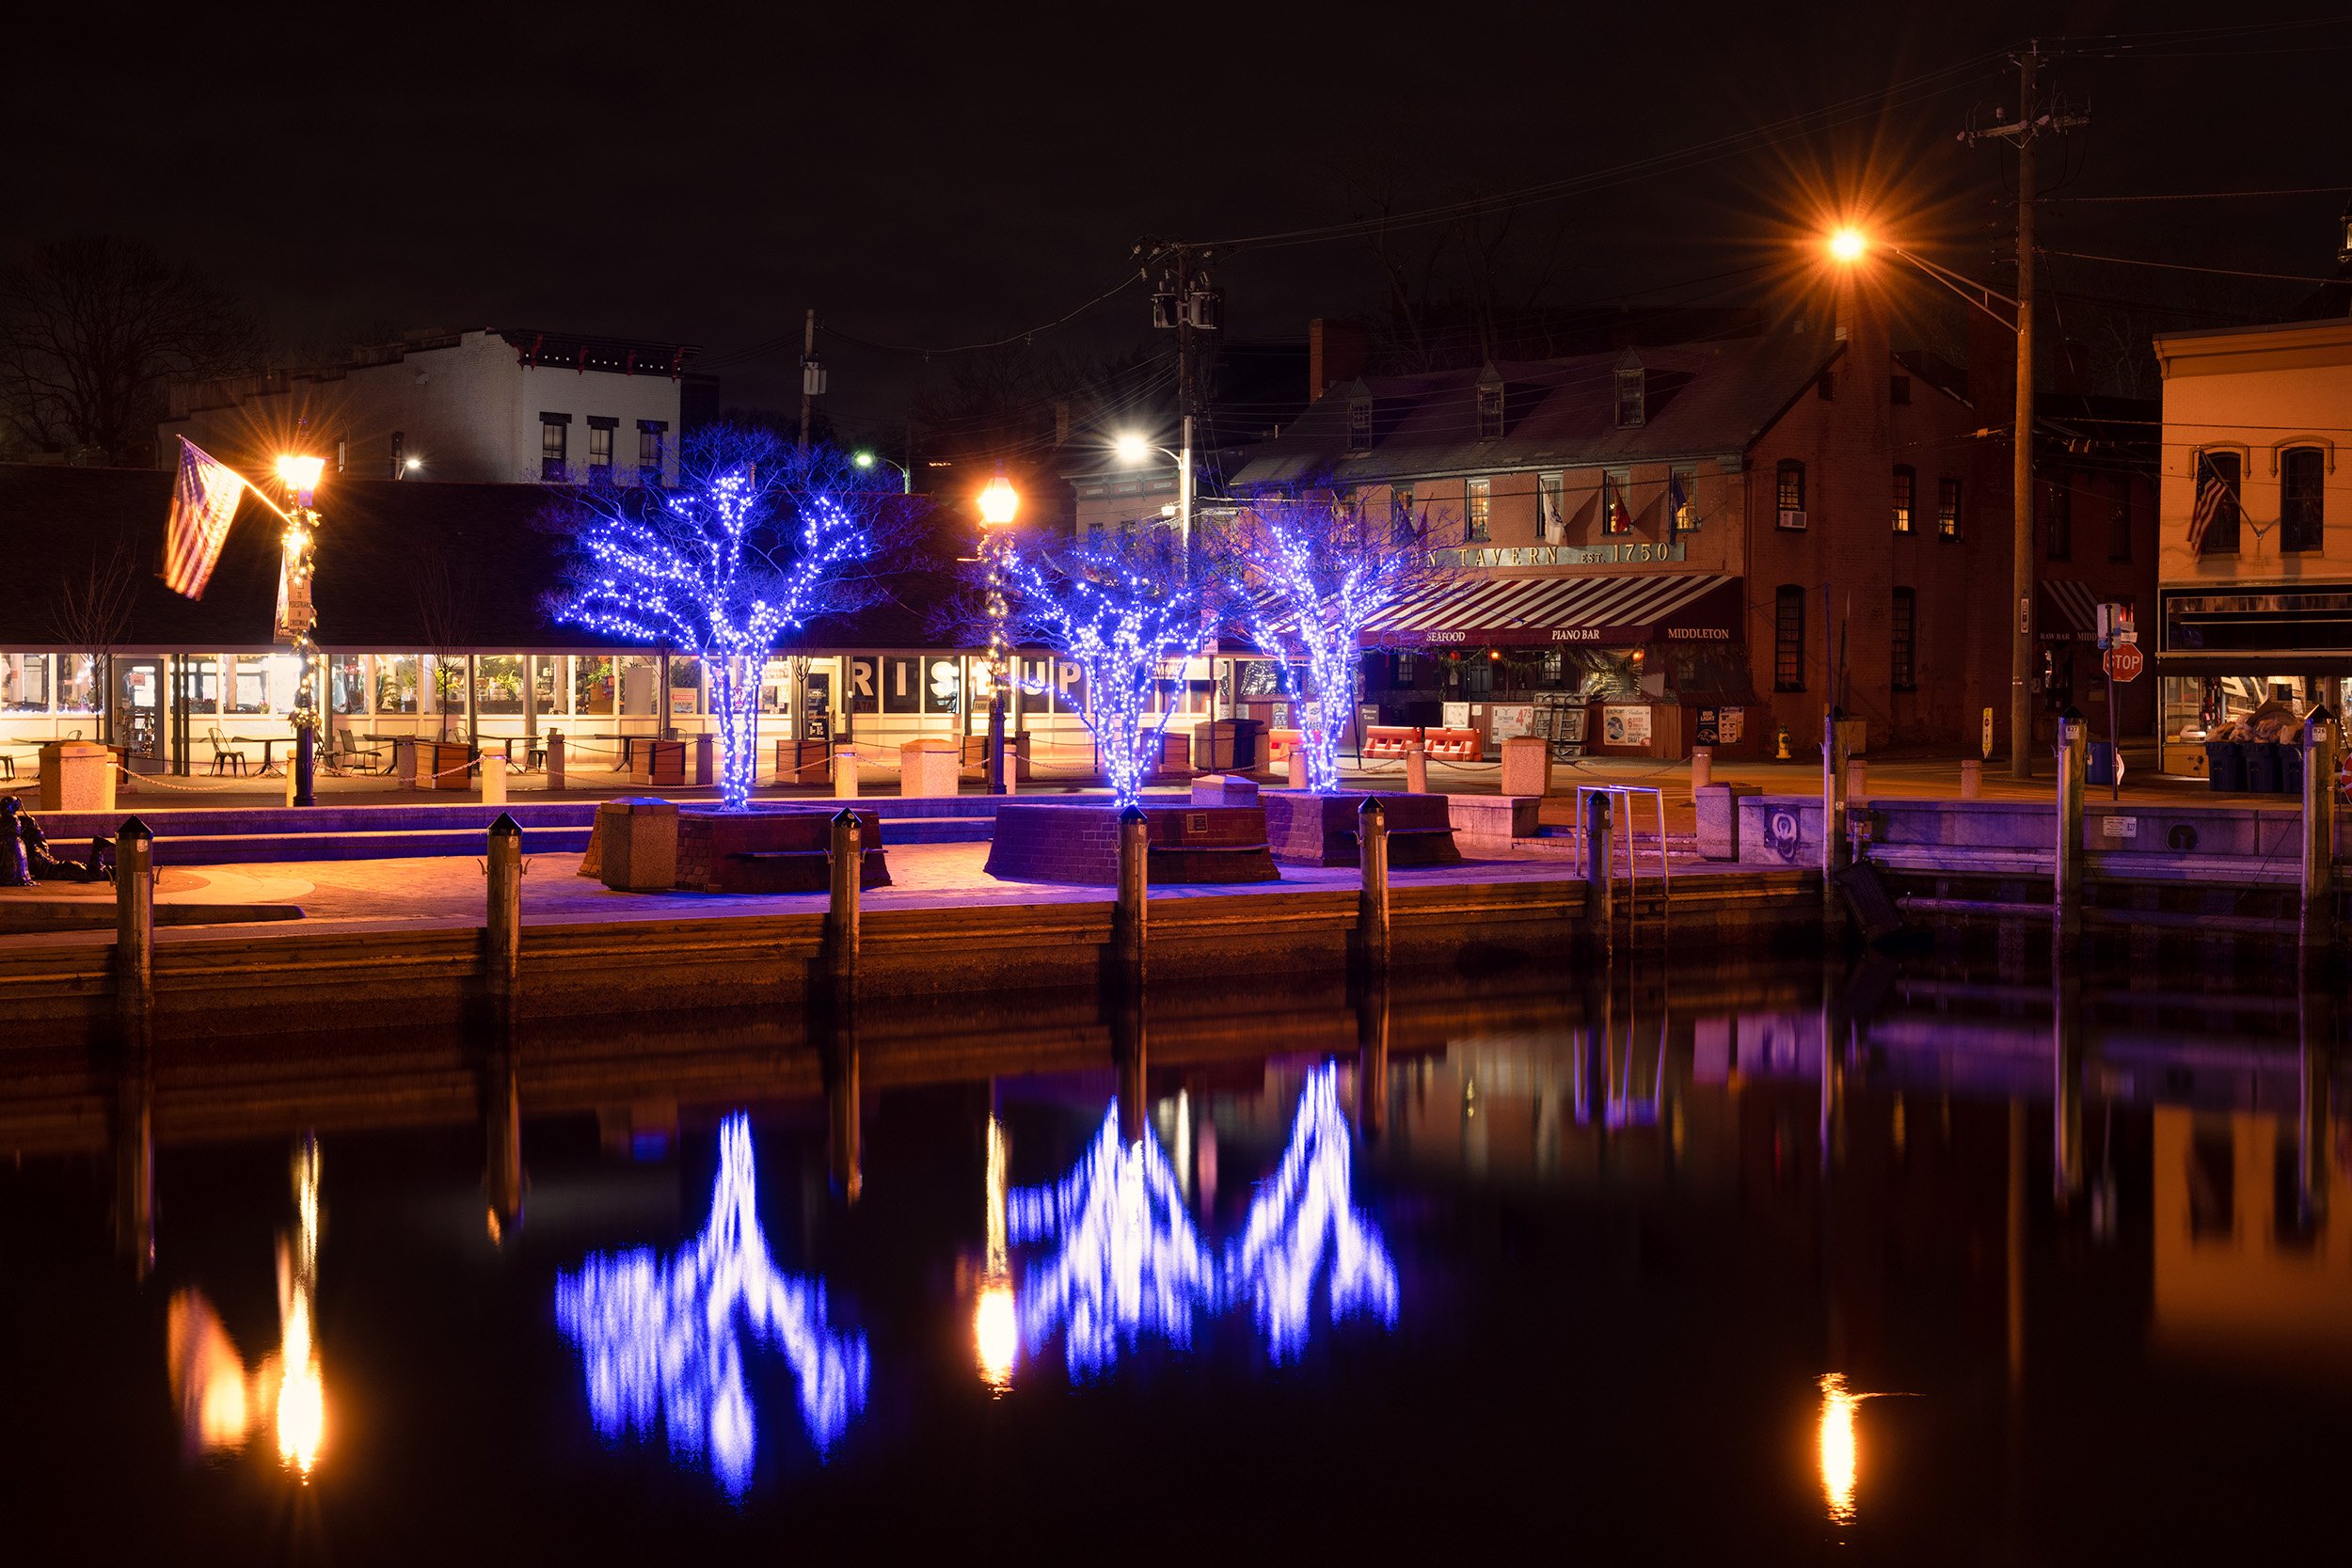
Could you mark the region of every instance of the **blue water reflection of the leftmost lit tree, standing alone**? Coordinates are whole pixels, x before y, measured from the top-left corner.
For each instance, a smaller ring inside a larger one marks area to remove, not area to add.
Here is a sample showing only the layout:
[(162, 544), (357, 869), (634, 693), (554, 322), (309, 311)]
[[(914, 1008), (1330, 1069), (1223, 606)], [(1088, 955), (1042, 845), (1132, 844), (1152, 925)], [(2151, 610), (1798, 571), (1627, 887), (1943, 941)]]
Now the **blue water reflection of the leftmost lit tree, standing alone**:
[(647, 1434), (656, 1415), (670, 1453), (699, 1460), (729, 1495), (750, 1483), (757, 1422), (743, 1387), (748, 1326), (783, 1349), (800, 1415), (823, 1455), (866, 1408), (866, 1335), (826, 1321), (821, 1281), (776, 1269), (760, 1234), (750, 1119), (720, 1126), (710, 1222), (677, 1253), (593, 1253), (555, 1281), (555, 1321), (579, 1345), (597, 1432)]

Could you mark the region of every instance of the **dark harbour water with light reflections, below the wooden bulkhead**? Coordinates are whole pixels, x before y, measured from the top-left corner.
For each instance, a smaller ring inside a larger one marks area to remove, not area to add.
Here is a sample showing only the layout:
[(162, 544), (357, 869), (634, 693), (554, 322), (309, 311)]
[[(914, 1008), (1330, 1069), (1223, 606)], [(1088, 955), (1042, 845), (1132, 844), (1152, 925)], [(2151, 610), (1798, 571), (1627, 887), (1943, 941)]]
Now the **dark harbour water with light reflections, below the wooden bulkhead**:
[(2340, 1561), (2331, 997), (1216, 1001), (21, 1051), (9, 1556)]

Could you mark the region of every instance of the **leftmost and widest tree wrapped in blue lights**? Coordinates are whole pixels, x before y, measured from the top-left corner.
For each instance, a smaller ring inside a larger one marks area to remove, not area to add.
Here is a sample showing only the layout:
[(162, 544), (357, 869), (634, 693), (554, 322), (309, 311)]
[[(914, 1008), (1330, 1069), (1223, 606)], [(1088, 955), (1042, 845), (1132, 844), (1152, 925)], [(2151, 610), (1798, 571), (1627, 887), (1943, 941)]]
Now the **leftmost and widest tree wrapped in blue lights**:
[(741, 811), (769, 656), (816, 616), (875, 602), (875, 574), (910, 522), (906, 498), (870, 489), (830, 447), (710, 425), (682, 442), (675, 489), (595, 477), (557, 494), (546, 524), (567, 536), (569, 559), (548, 609), (701, 661), (720, 719), (720, 797)]

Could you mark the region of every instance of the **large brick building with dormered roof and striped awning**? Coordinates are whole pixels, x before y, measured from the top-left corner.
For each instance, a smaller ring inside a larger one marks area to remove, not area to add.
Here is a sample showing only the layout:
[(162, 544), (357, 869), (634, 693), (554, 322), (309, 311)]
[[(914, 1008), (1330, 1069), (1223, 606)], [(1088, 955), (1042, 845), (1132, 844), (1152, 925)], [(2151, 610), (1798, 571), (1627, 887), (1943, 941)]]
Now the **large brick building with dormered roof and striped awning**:
[[(1971, 357), (1893, 353), (1849, 287), (1828, 331), (1334, 376), (1235, 484), (1402, 491), (1468, 524), (1470, 585), (1378, 628), (1364, 703), (1388, 722), (1435, 724), (1454, 701), (1524, 724), (1536, 705), (1576, 715), (1538, 719), (1555, 741), (1573, 729), (1602, 755), (1738, 755), (1778, 726), (1816, 738), (1837, 701), (1870, 743), (1973, 752), (1983, 710), (1994, 745), (2009, 717), (2013, 343)], [(2152, 494), (2110, 451), (2129, 425), (2067, 407), (2042, 451), (2077, 461), (2037, 503), (2065, 534), (2037, 562), (2051, 712), (2093, 684), (2074, 654), (2089, 607), (2154, 585)], [(2110, 473), (2129, 482), (2119, 550)], [(2077, 522), (2093, 510), (2096, 531)]]

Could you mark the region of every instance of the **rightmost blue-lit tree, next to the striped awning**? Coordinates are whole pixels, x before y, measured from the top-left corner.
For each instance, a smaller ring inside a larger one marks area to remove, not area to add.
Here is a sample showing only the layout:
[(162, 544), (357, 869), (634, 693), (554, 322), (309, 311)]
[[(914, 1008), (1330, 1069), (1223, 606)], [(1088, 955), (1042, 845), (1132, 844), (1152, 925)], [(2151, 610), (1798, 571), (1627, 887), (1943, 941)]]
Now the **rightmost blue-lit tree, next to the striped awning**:
[(1338, 743), (1355, 715), (1364, 651), (1383, 646), (1378, 621), (1456, 590), (1458, 574), (1439, 552), (1461, 536), (1428, 508), (1374, 505), (1336, 489), (1256, 491), (1207, 531), (1207, 557), (1240, 630), (1279, 663), (1284, 696), (1322, 710), (1319, 724), (1298, 726), (1310, 790), (1341, 788)]

